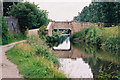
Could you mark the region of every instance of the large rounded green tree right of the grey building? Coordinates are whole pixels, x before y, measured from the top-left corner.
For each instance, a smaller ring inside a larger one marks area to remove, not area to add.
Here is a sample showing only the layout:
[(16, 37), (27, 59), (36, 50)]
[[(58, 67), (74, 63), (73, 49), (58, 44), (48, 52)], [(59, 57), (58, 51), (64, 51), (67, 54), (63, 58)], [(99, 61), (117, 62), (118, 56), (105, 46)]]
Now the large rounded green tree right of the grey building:
[(29, 2), (14, 4), (9, 15), (18, 18), (20, 30), (23, 34), (27, 28), (39, 28), (42, 25), (47, 25), (49, 21), (45, 10), (40, 10), (38, 5)]

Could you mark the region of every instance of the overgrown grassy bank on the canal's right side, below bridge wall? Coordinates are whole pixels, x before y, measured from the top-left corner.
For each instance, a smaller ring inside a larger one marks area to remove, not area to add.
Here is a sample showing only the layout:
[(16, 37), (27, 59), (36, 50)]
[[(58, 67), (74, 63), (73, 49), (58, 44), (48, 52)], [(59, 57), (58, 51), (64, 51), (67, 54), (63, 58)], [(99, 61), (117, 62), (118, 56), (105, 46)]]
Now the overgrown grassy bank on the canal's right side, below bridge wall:
[(120, 26), (107, 28), (89, 27), (74, 33), (71, 36), (71, 41), (73, 43), (97, 45), (110, 50), (120, 50), (119, 27)]

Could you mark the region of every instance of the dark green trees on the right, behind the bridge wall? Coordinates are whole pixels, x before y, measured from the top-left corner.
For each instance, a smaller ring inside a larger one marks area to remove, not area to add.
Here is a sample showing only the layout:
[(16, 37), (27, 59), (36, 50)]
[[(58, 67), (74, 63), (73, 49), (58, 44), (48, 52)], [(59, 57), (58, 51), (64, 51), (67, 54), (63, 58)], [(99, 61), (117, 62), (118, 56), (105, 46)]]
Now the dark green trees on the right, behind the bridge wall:
[(119, 2), (92, 2), (85, 6), (74, 20), (79, 22), (104, 23), (104, 26), (119, 25)]

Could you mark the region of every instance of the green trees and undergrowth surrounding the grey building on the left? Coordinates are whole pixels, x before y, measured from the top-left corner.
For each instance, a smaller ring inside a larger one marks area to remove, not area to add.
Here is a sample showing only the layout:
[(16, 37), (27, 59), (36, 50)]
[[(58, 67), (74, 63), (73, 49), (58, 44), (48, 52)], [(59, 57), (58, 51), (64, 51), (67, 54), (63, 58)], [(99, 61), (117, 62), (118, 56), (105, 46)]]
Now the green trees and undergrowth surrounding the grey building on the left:
[(28, 29), (40, 28), (49, 22), (48, 12), (41, 10), (38, 5), (29, 2), (4, 2), (4, 16), (14, 16), (18, 19), (20, 33), (10, 32), (3, 16), (0, 15), (0, 45), (26, 39)]

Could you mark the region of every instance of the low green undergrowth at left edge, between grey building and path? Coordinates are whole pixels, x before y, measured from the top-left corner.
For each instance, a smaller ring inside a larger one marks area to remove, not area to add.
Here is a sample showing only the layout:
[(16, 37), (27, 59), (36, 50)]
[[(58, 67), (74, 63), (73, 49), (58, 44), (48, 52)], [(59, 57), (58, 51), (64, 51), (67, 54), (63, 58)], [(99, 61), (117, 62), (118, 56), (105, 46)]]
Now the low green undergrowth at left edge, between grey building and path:
[(5, 44), (9, 44), (11, 42), (26, 39), (26, 36), (24, 36), (21, 33), (9, 32), (8, 31), (8, 25), (6, 24), (6, 22), (4, 20), (4, 17), (0, 16), (0, 19), (1, 19), (1, 23), (0, 23), (0, 29), (1, 29), (0, 45), (5, 45)]

